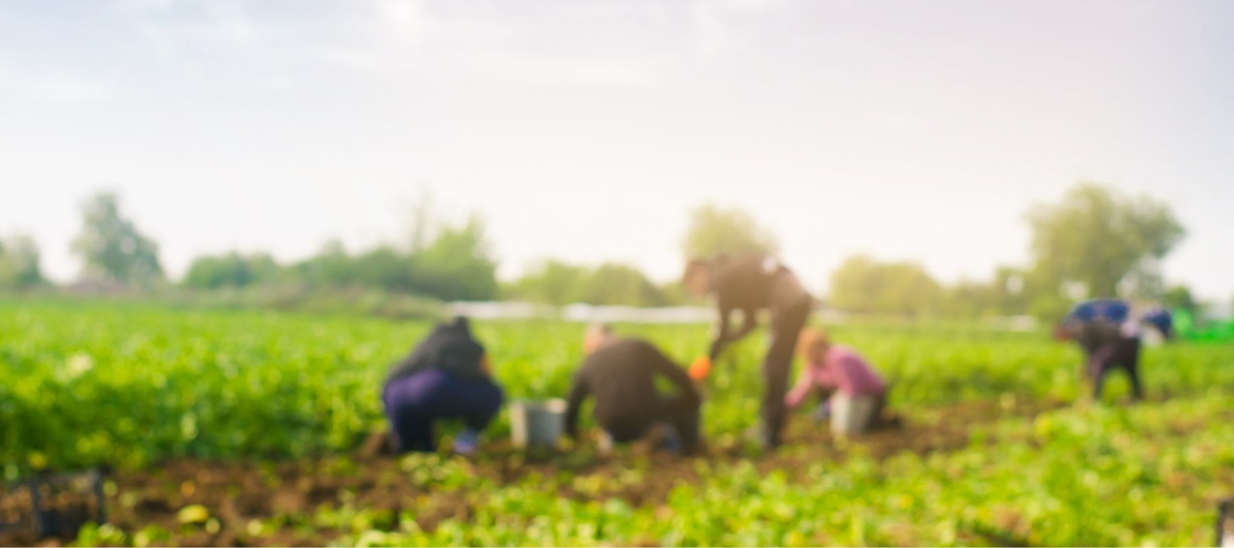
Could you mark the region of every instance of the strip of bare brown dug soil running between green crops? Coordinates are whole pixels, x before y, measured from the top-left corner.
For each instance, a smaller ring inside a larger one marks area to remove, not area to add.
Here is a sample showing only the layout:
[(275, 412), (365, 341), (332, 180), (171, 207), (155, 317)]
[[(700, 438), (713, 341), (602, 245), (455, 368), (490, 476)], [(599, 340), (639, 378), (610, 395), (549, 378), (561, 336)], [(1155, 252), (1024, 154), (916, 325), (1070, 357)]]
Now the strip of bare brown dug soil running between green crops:
[[(484, 455), (465, 464), (469, 474), (496, 485), (511, 485), (534, 478), (552, 478), (560, 471), (580, 476), (618, 476), (643, 459), (654, 470), (644, 480), (598, 495), (580, 492), (570, 484), (558, 489), (559, 496), (575, 500), (619, 497), (632, 506), (659, 505), (682, 481), (701, 481), (697, 462), (733, 464), (750, 460), (758, 470), (803, 469), (819, 462), (839, 462), (851, 452), (876, 459), (911, 452), (928, 454), (956, 450), (969, 446), (972, 427), (1009, 417), (1032, 420), (1037, 415), (1067, 404), (1059, 401), (977, 401), (937, 409), (948, 417), (935, 425), (905, 421), (898, 430), (874, 432), (848, 443), (832, 439), (828, 428), (795, 416), (789, 425), (786, 444), (771, 454), (750, 455), (744, 447), (712, 447), (706, 453), (682, 458), (636, 446), (610, 455), (592, 453), (558, 454), (540, 460), (527, 459), (508, 443), (492, 443)], [(342, 464), (341, 464), (342, 463)], [(468, 520), (473, 512), (471, 491), (434, 490), (417, 486), (392, 455), (354, 454), (347, 459), (322, 458), (258, 465), (180, 459), (143, 471), (120, 471), (114, 476), (116, 492), (109, 496), (109, 522), (122, 531), (136, 532), (157, 525), (180, 531), (176, 512), (189, 505), (201, 505), (217, 520), (217, 531), (207, 533), (195, 527), (175, 537), (183, 546), (321, 546), (338, 533), (321, 529), (280, 527), (273, 536), (252, 534), (248, 523), (275, 516), (312, 512), (320, 505), (339, 507), (344, 502), (357, 509), (389, 510), (397, 516), (410, 510), (417, 526), (431, 531), (443, 520)], [(423, 485), (423, 484), (422, 484)], [(396, 521), (396, 520), (395, 520)], [(397, 523), (391, 523), (396, 527)], [(0, 536), (0, 544), (30, 544), (33, 539)], [(46, 539), (42, 546), (60, 541)]]

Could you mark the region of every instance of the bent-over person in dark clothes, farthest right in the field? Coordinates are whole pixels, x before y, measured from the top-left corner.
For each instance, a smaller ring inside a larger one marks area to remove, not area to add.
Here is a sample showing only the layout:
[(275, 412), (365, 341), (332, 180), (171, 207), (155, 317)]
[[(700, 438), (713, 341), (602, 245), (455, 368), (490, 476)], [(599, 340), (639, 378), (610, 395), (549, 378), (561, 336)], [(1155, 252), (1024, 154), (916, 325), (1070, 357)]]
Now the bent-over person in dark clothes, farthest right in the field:
[(1093, 384), (1092, 397), (1099, 399), (1106, 375), (1114, 369), (1127, 372), (1132, 395), (1144, 397), (1140, 386), (1140, 332), (1132, 307), (1119, 299), (1090, 300), (1076, 305), (1058, 328), (1059, 338), (1072, 339), (1087, 355), (1085, 372)]

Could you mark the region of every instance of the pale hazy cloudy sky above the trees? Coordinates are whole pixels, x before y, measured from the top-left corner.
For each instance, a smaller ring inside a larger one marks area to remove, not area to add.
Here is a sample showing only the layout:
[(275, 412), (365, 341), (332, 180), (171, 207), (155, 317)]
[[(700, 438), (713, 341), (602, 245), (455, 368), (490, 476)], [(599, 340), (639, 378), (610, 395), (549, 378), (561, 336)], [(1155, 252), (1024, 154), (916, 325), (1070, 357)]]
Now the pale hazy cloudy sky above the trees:
[(431, 195), (537, 259), (679, 275), (740, 207), (816, 290), (854, 253), (1028, 259), (1096, 180), (1170, 204), (1167, 280), (1234, 295), (1229, 1), (0, 1), (0, 235), (73, 279), (122, 195), (167, 270), (407, 239)]

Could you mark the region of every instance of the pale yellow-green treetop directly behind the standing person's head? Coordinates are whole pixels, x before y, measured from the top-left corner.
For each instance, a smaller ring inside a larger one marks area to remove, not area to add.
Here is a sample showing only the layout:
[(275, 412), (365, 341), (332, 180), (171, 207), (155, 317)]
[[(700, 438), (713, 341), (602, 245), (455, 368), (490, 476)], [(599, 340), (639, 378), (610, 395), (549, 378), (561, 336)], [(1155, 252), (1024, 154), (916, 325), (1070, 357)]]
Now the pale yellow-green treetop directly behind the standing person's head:
[(681, 242), (686, 259), (719, 253), (759, 252), (776, 254), (780, 243), (745, 211), (703, 205), (690, 214), (690, 227)]

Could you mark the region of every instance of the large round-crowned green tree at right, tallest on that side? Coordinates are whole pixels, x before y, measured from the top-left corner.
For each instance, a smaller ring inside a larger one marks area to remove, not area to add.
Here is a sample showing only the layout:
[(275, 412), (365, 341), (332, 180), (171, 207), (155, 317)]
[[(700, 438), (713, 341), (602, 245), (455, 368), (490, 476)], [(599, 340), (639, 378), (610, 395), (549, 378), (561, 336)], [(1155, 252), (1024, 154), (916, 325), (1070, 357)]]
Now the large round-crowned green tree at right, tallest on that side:
[(1119, 295), (1120, 286), (1151, 295), (1160, 286), (1157, 262), (1185, 235), (1166, 204), (1092, 183), (1034, 206), (1028, 222), (1033, 274), (1051, 295), (1066, 283), (1080, 284), (1087, 297)]

